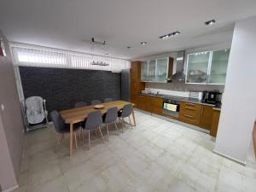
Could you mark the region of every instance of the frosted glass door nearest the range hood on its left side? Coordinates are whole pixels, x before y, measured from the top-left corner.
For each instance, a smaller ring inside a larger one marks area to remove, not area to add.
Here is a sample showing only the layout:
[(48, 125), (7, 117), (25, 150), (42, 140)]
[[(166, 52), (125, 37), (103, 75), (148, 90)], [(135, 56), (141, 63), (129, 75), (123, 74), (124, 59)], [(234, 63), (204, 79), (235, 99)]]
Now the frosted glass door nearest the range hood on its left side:
[(167, 78), (168, 58), (161, 58), (156, 60), (156, 82), (166, 82)]

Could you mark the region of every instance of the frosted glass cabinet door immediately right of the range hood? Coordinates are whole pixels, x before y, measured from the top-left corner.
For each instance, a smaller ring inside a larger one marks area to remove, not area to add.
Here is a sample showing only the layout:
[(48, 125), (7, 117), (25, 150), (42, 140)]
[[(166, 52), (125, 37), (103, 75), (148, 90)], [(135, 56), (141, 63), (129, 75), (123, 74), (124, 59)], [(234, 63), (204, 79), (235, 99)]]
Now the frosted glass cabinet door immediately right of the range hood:
[(210, 52), (201, 52), (188, 55), (188, 71), (186, 83), (207, 83), (207, 71)]

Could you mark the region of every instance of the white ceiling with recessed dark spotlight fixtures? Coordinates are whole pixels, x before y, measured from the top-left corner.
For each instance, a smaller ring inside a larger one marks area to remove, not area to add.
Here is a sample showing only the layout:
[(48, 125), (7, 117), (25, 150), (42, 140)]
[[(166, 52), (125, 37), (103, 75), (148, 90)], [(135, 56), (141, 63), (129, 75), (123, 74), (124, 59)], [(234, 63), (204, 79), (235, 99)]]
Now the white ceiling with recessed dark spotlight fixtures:
[[(133, 60), (230, 43), (235, 21), (255, 10), (255, 0), (1, 0), (0, 28), (14, 42)], [(92, 37), (107, 45), (93, 46)]]

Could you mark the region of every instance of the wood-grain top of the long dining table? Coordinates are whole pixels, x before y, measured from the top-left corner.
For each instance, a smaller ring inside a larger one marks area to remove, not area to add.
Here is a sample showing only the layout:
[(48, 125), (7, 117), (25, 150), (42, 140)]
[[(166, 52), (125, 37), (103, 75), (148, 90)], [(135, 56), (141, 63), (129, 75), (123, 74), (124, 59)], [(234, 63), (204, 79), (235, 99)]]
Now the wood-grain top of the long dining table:
[(103, 102), (102, 105), (104, 108), (102, 109), (95, 109), (93, 105), (85, 106), (81, 108), (71, 108), (67, 110), (60, 111), (62, 119), (64, 119), (65, 123), (68, 124), (75, 124), (84, 121), (84, 119), (87, 118), (88, 113), (93, 111), (101, 111), (102, 114), (107, 113), (108, 108), (114, 108), (117, 107), (119, 110), (124, 108), (126, 104), (131, 104), (134, 106), (131, 102), (125, 102), (122, 100), (113, 101), (113, 102)]

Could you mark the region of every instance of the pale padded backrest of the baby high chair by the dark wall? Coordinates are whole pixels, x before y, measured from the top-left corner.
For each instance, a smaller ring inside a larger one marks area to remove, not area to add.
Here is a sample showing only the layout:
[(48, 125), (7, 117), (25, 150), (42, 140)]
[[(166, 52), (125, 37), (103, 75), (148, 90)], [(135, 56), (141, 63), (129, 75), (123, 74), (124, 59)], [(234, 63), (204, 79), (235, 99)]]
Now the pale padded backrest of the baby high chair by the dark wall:
[(41, 96), (30, 96), (26, 98), (26, 117), (30, 124), (41, 123), (44, 118), (44, 100)]

